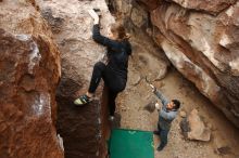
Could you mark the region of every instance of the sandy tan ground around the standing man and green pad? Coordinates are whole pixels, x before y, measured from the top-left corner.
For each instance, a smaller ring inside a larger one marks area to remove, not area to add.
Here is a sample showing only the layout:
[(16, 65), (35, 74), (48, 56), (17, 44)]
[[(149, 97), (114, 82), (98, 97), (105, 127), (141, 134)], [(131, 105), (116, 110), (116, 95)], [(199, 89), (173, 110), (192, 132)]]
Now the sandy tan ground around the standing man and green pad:
[[(146, 63), (147, 64), (147, 63)], [(130, 61), (129, 80), (126, 90), (117, 97), (117, 114), (121, 115), (121, 128), (153, 131), (156, 129), (158, 111), (149, 113), (143, 107), (156, 97), (146, 83), (138, 65)], [(155, 65), (154, 65), (155, 66)], [(159, 65), (160, 66), (160, 65)], [(159, 69), (160, 70), (160, 69)], [(180, 110), (187, 114), (193, 108), (212, 129), (210, 142), (185, 140), (179, 127), (179, 115), (174, 120), (168, 144), (162, 152), (154, 152), (155, 158), (238, 158), (239, 130), (217, 110), (189, 81), (175, 69), (166, 77), (153, 82), (168, 98), (178, 98), (183, 103)], [(154, 148), (160, 139), (154, 136)], [(219, 149), (221, 148), (221, 149)]]

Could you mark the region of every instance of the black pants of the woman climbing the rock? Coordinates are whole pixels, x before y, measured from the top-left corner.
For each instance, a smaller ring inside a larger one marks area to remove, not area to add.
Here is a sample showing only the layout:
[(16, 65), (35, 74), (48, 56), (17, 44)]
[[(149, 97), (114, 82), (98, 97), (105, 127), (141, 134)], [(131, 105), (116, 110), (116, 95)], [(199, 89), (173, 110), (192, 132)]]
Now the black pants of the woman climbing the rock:
[(120, 92), (125, 89), (126, 79), (117, 75), (113, 69), (106, 66), (102, 62), (98, 62), (93, 66), (92, 77), (88, 92), (95, 93), (101, 78), (104, 80), (104, 84), (109, 88), (108, 105), (110, 108), (110, 115), (114, 116), (115, 111), (115, 98)]

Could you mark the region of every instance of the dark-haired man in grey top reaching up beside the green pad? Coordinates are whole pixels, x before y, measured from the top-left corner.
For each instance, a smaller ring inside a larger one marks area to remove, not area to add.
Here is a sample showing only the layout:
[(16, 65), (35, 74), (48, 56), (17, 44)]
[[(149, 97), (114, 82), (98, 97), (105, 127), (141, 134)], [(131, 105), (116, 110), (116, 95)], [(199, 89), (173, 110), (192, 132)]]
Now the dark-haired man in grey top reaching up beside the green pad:
[(158, 146), (158, 150), (162, 150), (167, 144), (167, 134), (171, 130), (171, 123), (176, 118), (178, 109), (180, 107), (180, 102), (178, 100), (168, 100), (155, 87), (153, 88), (153, 93), (161, 100), (162, 107), (156, 103), (155, 107), (158, 108), (159, 122), (158, 131), (153, 131), (154, 134), (159, 135), (161, 139), (161, 144)]

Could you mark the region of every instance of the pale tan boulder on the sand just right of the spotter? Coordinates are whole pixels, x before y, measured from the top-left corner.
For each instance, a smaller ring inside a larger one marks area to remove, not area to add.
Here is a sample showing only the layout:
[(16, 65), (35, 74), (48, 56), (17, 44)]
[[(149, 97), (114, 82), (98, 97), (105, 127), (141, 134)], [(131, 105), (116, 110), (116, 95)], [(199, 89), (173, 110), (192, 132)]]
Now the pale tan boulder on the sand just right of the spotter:
[(193, 109), (188, 116), (190, 131), (188, 132), (189, 140), (210, 141), (211, 131), (201, 120), (198, 110)]

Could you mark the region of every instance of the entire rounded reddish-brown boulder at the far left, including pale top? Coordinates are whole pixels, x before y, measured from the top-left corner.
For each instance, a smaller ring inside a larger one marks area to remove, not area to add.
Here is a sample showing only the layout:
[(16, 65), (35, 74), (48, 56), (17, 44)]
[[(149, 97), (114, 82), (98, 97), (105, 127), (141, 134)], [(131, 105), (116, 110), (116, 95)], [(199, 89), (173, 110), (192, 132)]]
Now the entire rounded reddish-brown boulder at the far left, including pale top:
[(63, 158), (54, 127), (59, 52), (32, 4), (0, 2), (0, 157)]

